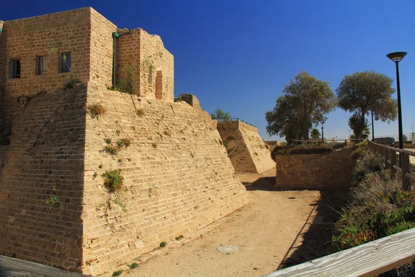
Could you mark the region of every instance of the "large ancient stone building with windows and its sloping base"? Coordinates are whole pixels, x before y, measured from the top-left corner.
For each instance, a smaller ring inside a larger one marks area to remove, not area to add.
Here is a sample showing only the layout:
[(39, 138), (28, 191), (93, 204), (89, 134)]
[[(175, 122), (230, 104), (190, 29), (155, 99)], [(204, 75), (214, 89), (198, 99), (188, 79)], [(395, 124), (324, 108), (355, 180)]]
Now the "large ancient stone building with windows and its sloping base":
[(93, 8), (0, 28), (0, 254), (97, 276), (248, 202), (160, 37)]

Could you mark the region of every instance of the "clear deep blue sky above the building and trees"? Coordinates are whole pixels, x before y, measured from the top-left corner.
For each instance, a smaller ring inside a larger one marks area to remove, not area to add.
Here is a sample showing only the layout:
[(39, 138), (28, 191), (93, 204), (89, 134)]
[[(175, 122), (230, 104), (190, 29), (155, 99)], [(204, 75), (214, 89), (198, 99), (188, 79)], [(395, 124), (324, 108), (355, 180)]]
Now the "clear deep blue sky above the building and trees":
[[(396, 78), (400, 62), (403, 132), (415, 124), (415, 1), (2, 1), (7, 21), (92, 6), (119, 28), (160, 35), (174, 55), (175, 95), (192, 93), (203, 109), (230, 112), (256, 125), (301, 70), (336, 89), (344, 75), (374, 70)], [(394, 87), (396, 83), (394, 83)], [(396, 96), (395, 96), (396, 97)], [(329, 114), (325, 136), (349, 136), (351, 114)], [(376, 136), (397, 136), (397, 121), (375, 123)], [(273, 137), (273, 139), (277, 139)]]

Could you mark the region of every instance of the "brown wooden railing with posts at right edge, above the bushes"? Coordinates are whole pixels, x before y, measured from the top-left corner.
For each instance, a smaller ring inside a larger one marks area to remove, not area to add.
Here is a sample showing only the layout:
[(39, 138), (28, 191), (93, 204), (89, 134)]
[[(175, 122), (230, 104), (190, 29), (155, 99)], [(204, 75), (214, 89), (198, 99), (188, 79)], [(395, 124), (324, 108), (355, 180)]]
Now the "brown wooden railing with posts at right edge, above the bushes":
[[(393, 148), (387, 145), (373, 143), (369, 141), (369, 150), (371, 152), (380, 154), (385, 159), (385, 168), (391, 170), (391, 175), (395, 176), (400, 172), (402, 179), (402, 188), (408, 190), (411, 186), (411, 181), (415, 183), (415, 177), (410, 172), (409, 156), (415, 157), (415, 152)], [(399, 153), (399, 166), (396, 163), (396, 153)]]

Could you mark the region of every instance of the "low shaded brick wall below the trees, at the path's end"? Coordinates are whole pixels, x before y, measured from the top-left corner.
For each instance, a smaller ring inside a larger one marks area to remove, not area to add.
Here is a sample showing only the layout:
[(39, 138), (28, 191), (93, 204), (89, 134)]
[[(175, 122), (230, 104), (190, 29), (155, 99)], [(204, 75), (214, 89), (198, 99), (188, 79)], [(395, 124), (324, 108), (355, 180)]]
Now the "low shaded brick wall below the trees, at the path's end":
[(350, 186), (356, 159), (353, 148), (330, 154), (277, 155), (275, 185), (279, 189), (336, 189)]

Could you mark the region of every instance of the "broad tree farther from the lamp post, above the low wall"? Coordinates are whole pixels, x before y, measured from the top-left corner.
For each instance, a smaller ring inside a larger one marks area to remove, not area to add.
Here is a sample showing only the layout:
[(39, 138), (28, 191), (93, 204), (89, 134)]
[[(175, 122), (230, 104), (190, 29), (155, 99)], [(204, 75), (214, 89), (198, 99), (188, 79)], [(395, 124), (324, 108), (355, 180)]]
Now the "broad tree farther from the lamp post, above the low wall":
[(282, 92), (274, 109), (266, 111), (266, 131), (270, 136), (285, 136), (288, 143), (308, 139), (311, 127), (326, 120), (326, 114), (337, 104), (329, 83), (316, 80), (306, 71), (295, 75)]

